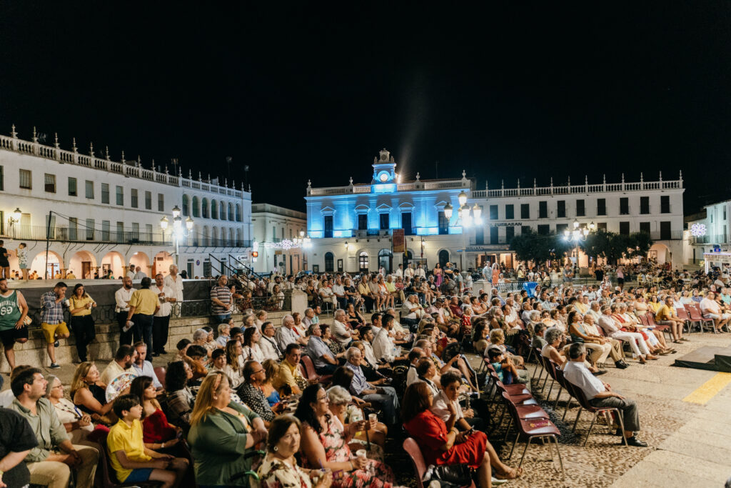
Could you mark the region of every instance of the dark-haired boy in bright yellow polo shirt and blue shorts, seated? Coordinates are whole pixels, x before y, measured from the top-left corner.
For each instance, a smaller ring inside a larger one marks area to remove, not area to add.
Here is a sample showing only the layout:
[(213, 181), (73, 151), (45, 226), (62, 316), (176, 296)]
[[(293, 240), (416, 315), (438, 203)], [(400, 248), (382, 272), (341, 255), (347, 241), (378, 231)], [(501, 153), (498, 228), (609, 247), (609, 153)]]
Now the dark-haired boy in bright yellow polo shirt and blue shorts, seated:
[(120, 395), (114, 400), (113, 410), (119, 421), (109, 430), (107, 448), (119, 481), (162, 481), (163, 488), (178, 487), (188, 470), (188, 459), (145, 447), (140, 424), (143, 409), (137, 395)]

